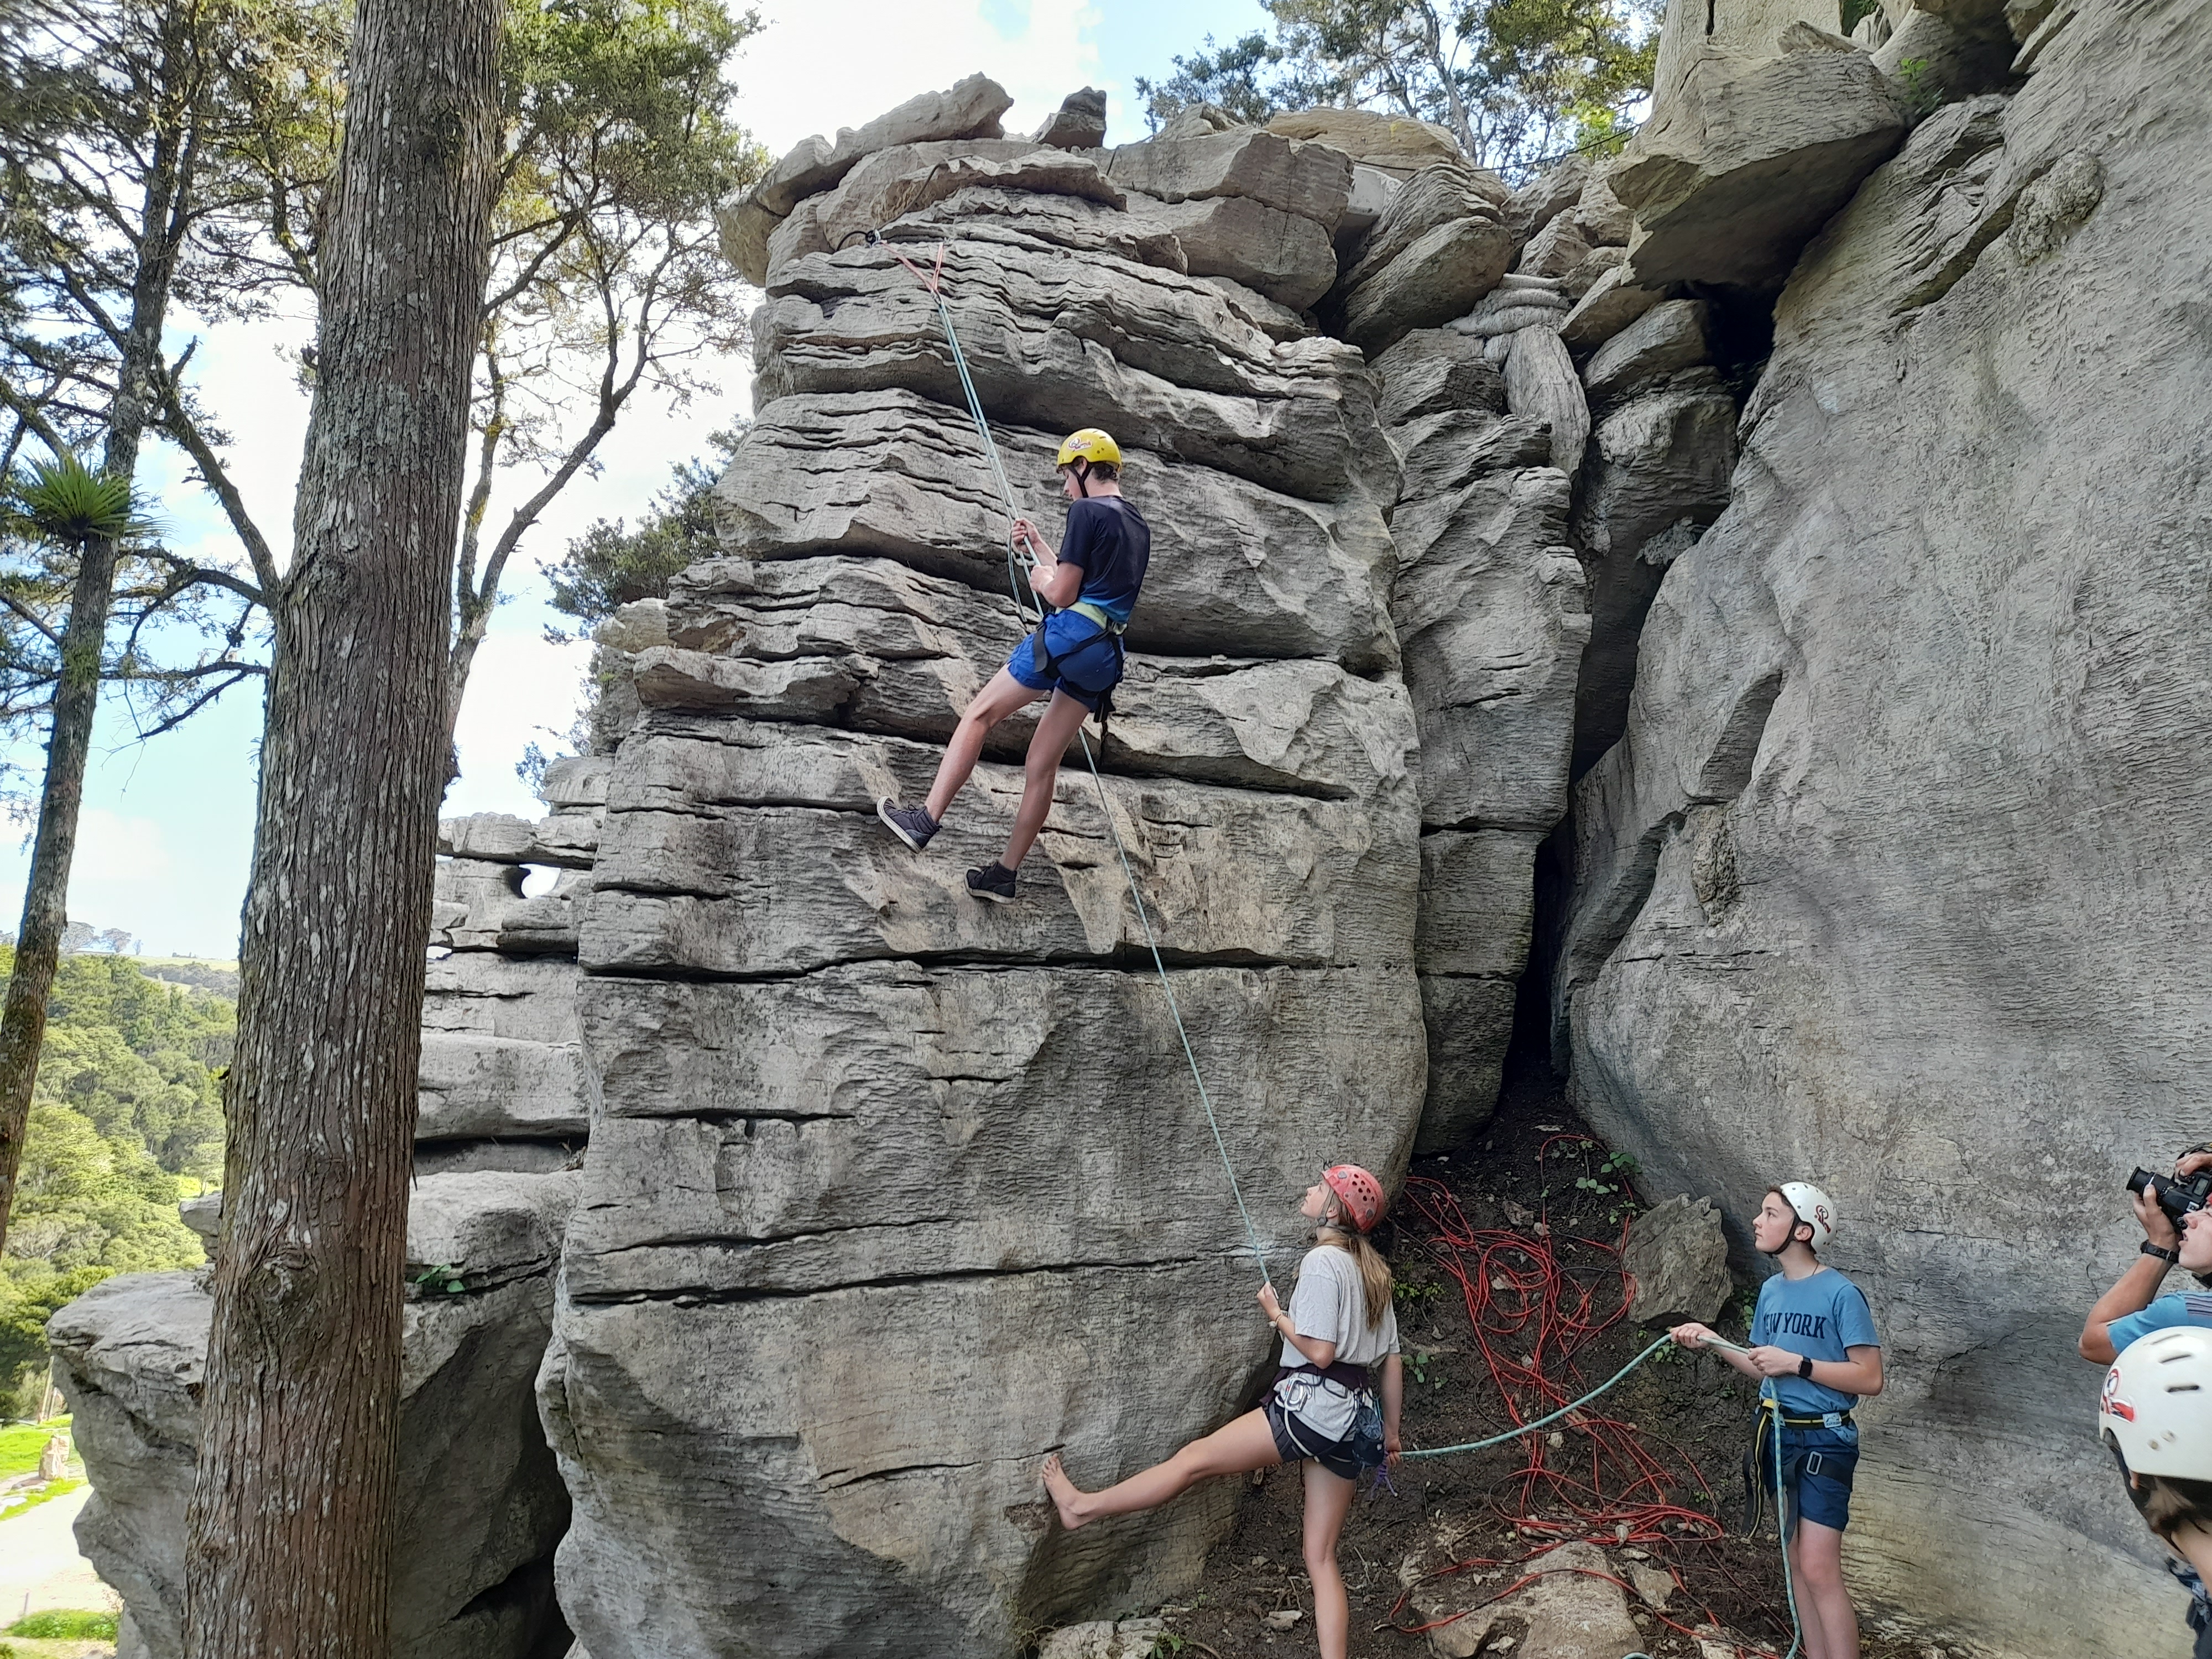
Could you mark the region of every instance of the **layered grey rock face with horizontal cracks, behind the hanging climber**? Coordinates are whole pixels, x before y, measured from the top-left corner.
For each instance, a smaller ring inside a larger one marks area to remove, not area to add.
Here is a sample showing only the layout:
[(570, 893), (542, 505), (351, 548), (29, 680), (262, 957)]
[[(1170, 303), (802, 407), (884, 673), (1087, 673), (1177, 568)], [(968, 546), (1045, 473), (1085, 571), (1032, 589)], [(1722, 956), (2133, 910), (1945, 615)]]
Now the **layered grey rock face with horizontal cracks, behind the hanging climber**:
[[(1037, 1464), (1161, 1458), (1267, 1347), (1110, 830), (1276, 1270), (1321, 1161), (1402, 1168), (1420, 1110), (1398, 462), (1360, 354), (1261, 292), (1334, 281), (1349, 181), (1250, 131), (929, 142), (785, 219), (891, 246), (776, 232), (728, 557), (635, 657), (582, 902), (593, 1150), (542, 1407), (595, 1659), (998, 1652), (1157, 1601), (1225, 1524), (1223, 1489), (1064, 1535)], [(1022, 637), (891, 252), (940, 239), (1024, 509), (1060, 522), (1057, 436), (1104, 425), (1155, 526), (1104, 790), (1071, 754), (1011, 911), (962, 869), (1026, 723), (927, 856), (874, 816)]]

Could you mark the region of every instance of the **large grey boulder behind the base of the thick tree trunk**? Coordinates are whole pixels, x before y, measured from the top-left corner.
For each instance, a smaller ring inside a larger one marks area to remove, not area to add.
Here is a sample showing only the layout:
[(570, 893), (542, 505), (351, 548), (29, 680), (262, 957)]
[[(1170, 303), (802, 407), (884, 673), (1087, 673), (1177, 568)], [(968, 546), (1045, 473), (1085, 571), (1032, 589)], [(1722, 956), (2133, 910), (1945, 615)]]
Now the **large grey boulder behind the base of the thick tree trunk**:
[[(396, 1659), (538, 1659), (566, 1632), (553, 1546), (568, 1495), (531, 1387), (575, 1175), (418, 1179), (400, 1352)], [(184, 1537), (215, 1303), (201, 1274), (126, 1274), (60, 1310), (49, 1343), (93, 1480), (77, 1544), (124, 1597), (139, 1650), (184, 1652)]]

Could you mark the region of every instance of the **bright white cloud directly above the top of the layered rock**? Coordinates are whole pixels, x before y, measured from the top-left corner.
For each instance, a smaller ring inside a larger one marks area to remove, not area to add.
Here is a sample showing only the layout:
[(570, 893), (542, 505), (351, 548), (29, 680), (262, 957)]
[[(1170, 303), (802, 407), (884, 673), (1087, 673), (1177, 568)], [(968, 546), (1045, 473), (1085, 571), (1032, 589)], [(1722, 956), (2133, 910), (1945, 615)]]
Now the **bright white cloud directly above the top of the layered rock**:
[(1031, 133), (1099, 73), (1088, 0), (768, 0), (761, 15), (737, 86), (774, 155), (978, 71), (1013, 95), (1006, 131)]

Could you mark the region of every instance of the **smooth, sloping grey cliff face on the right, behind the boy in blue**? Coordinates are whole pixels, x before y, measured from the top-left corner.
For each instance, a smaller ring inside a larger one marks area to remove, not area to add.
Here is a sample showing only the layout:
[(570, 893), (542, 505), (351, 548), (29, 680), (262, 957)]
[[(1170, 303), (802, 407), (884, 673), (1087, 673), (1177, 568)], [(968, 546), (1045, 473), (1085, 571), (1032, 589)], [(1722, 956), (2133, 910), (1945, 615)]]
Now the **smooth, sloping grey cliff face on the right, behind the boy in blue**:
[(1790, 279), (1719, 522), (1575, 799), (1573, 1084), (1661, 1190), (1807, 1170), (1867, 1285), (1863, 1586), (2179, 1652), (2073, 1354), (2203, 1135), (2212, 13), (2053, 13)]

